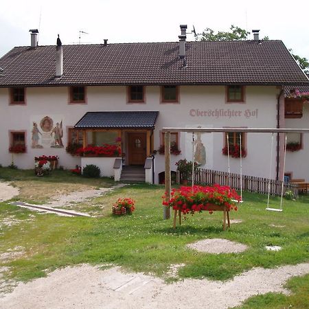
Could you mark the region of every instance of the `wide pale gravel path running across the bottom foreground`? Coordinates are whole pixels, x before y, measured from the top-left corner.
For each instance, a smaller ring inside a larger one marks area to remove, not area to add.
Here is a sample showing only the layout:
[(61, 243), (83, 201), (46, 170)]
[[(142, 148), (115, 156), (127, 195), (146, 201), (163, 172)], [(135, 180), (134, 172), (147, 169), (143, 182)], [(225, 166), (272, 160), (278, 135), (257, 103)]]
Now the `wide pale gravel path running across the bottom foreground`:
[[(268, 292), (288, 293), (282, 285), (292, 276), (309, 273), (309, 263), (274, 269), (253, 268), (227, 282), (184, 279), (165, 284), (141, 273), (113, 267), (67, 267), (46, 278), (19, 284), (2, 295), (1, 308), (211, 308), (239, 306)], [(35, 293), (34, 293), (35, 291)]]

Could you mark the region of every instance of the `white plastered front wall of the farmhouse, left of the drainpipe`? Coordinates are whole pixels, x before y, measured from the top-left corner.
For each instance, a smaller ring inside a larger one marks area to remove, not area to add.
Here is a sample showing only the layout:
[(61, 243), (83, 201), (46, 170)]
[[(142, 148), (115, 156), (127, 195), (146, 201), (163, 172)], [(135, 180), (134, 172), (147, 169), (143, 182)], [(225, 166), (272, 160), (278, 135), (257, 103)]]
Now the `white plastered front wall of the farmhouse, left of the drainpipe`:
[[(38, 155), (58, 155), (59, 165), (74, 168), (80, 165), (80, 158), (71, 157), (65, 148), (31, 148), (32, 119), (36, 115), (57, 115), (62, 118), (63, 125), (73, 126), (87, 111), (159, 111), (154, 133), (155, 149), (160, 146), (159, 130), (163, 127), (248, 127), (275, 128), (277, 94), (276, 87), (247, 86), (245, 104), (225, 103), (224, 86), (181, 86), (180, 104), (160, 104), (159, 86), (146, 87), (146, 104), (126, 104), (126, 87), (88, 87), (87, 104), (68, 104), (67, 87), (27, 88), (27, 105), (9, 106), (8, 89), (0, 89), (0, 163), (9, 165), (11, 155), (8, 152), (9, 130), (27, 130), (27, 153), (14, 155), (14, 163), (19, 168), (33, 168), (34, 157)], [(199, 111), (216, 113), (234, 111), (234, 116), (198, 116)], [(247, 117), (247, 113), (255, 113)], [(191, 135), (181, 133), (181, 155), (172, 155), (172, 170), (176, 170), (174, 163), (179, 159), (192, 159)], [(227, 170), (227, 157), (222, 155), (224, 146), (223, 134), (209, 134), (202, 137), (207, 152), (205, 168)], [(62, 139), (67, 145), (67, 132)], [(269, 157), (271, 152), (271, 137), (265, 133), (251, 133), (247, 137), (248, 156), (243, 159), (243, 173), (255, 176), (269, 174)], [(274, 156), (275, 160), (275, 156)], [(164, 170), (164, 156), (156, 155), (155, 174)], [(239, 159), (231, 159), (231, 172), (239, 171)], [(273, 164), (275, 176), (275, 164)]]

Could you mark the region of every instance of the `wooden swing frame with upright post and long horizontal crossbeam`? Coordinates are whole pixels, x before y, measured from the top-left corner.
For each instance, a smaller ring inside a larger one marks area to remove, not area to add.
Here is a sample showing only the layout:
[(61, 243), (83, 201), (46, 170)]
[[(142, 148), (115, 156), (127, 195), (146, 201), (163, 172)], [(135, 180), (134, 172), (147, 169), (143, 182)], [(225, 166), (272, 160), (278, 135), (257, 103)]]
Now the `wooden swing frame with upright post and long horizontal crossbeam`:
[[(185, 133), (225, 133), (225, 132), (236, 132), (236, 133), (309, 133), (309, 128), (295, 129), (295, 128), (163, 128), (165, 142), (165, 192), (166, 200), (169, 201), (171, 198), (171, 168), (170, 168), (170, 133), (174, 132), (185, 132)], [(279, 137), (279, 139), (282, 139)], [(282, 148), (282, 146), (281, 146)], [(194, 171), (194, 169), (193, 169)], [(282, 173), (284, 176), (284, 172)], [(194, 176), (194, 175), (193, 175)], [(193, 177), (192, 177), (193, 178)], [(193, 183), (193, 181), (192, 181)], [(282, 190), (283, 192), (283, 190)], [(270, 209), (268, 209), (270, 210)], [(275, 210), (280, 211), (280, 210)], [(170, 207), (163, 206), (163, 219), (170, 218)]]

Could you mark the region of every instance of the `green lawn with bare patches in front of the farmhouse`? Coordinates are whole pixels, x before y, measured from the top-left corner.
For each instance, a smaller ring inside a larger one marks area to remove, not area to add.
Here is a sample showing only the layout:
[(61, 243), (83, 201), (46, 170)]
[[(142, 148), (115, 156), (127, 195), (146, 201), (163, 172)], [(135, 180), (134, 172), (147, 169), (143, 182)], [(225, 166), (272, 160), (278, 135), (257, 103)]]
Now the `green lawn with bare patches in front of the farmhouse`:
[[(45, 187), (47, 192), (62, 187), (69, 190), (71, 185), (74, 189), (74, 185), (111, 186), (108, 179), (83, 179), (63, 171), (55, 171), (48, 177), (36, 177), (32, 172), (1, 168), (0, 177), (24, 186), (25, 192), (32, 183)], [(27, 201), (40, 201), (35, 192), (31, 196), (25, 192), (21, 196)], [(231, 213), (231, 219), (241, 219), (242, 223), (222, 231), (222, 213), (216, 212), (187, 216), (181, 227), (172, 229), (172, 220), (163, 220), (162, 195), (163, 187), (159, 185), (129, 185), (93, 198), (91, 203), (76, 205), (82, 209), (94, 207), (100, 215), (97, 218), (38, 214), (0, 203), (0, 222), (8, 218), (19, 221), (10, 227), (0, 224), (0, 254), (17, 246), (24, 251), (23, 256), (1, 261), (0, 266), (10, 267), (5, 274), (7, 278), (25, 282), (45, 276), (47, 271), (80, 263), (112, 263), (165, 279), (170, 264), (183, 263), (180, 278), (226, 280), (256, 266), (273, 268), (309, 261), (308, 196), (297, 201), (285, 200), (284, 211), (277, 213), (265, 211), (266, 196), (245, 192), (239, 211)], [(118, 197), (135, 199), (132, 216), (111, 215), (111, 205)], [(279, 198), (272, 198), (271, 205), (279, 205)], [(186, 244), (204, 238), (225, 238), (247, 244), (249, 249), (240, 254), (218, 255), (186, 249)], [(282, 251), (266, 251), (266, 245), (280, 246)], [(304, 284), (308, 288), (306, 277), (299, 280), (299, 286)]]

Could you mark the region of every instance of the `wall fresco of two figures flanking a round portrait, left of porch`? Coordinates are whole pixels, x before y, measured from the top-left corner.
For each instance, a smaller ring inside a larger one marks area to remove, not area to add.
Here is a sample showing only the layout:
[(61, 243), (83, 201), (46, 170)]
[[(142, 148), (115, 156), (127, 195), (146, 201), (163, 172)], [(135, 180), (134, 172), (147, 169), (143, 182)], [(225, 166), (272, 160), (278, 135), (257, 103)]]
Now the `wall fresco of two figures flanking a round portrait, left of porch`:
[(32, 148), (63, 148), (63, 117), (34, 116), (32, 119)]

